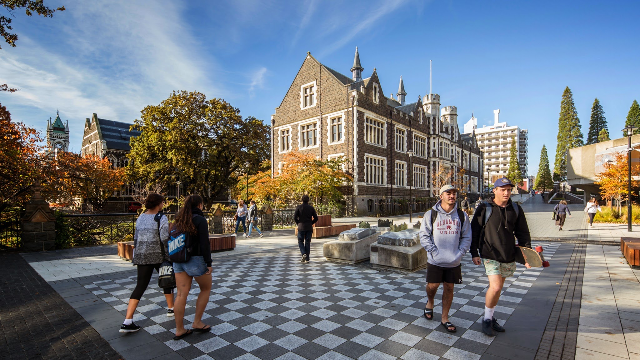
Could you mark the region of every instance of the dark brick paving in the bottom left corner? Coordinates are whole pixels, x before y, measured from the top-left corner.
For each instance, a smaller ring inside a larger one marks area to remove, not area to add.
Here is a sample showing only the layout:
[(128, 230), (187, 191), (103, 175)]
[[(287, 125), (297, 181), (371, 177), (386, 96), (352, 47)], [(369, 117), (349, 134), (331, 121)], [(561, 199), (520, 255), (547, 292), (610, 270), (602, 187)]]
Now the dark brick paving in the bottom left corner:
[(0, 255), (2, 359), (122, 359), (20, 254)]

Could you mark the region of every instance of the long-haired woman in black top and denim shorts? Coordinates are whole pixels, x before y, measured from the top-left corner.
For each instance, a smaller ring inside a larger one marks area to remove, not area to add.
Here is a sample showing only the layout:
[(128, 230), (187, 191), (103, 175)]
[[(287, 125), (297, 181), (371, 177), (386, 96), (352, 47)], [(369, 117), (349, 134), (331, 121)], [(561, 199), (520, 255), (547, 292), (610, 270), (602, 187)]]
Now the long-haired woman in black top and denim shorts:
[[(180, 340), (195, 332), (211, 331), (211, 326), (202, 322), (202, 314), (211, 295), (211, 245), (209, 245), (209, 226), (202, 208), (204, 203), (200, 195), (189, 195), (173, 222), (173, 231), (189, 233), (191, 240), (191, 258), (186, 263), (173, 263), (175, 284), (178, 295), (175, 298), (175, 337)], [(184, 308), (187, 304), (191, 281), (196, 279), (200, 286), (196, 313), (191, 329), (184, 329)]]

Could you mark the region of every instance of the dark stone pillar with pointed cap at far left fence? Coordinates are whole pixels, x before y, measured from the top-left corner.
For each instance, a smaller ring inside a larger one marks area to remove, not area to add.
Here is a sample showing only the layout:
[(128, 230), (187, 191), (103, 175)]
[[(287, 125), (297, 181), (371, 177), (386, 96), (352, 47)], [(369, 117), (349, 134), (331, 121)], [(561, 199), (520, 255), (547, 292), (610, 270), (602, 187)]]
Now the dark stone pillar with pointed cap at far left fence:
[(20, 219), (22, 251), (56, 250), (56, 218), (49, 208), (49, 202), (40, 194), (41, 191), (42, 187), (36, 185), (33, 197), (24, 204), (26, 213)]

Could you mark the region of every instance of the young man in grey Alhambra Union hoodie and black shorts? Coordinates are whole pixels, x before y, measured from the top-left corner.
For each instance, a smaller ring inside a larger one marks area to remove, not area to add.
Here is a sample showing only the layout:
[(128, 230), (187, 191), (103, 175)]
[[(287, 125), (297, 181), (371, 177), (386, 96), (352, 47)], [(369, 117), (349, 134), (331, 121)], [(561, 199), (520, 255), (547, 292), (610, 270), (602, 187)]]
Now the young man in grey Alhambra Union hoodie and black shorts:
[[(420, 225), (420, 244), (427, 250), (427, 304), (424, 317), (433, 319), (433, 298), (444, 282), (440, 323), (449, 332), (456, 326), (449, 322), (453, 284), (462, 284), (460, 261), (471, 247), (471, 225), (467, 213), (456, 206), (458, 190), (451, 185), (440, 188), (440, 201), (424, 214)], [(437, 213), (431, 222), (432, 212)]]

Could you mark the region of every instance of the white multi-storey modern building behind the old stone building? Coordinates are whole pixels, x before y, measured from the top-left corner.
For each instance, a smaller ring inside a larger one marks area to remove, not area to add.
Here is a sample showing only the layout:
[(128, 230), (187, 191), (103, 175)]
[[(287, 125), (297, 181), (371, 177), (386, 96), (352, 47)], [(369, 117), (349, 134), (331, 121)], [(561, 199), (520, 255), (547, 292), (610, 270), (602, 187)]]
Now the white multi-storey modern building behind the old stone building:
[(526, 178), (529, 165), (527, 129), (520, 129), (518, 126), (509, 126), (506, 122), (500, 122), (500, 109), (493, 110), (493, 114), (493, 125), (491, 126), (477, 127), (477, 119), (473, 115), (465, 124), (465, 133), (475, 131), (478, 146), (484, 152), (484, 179), (488, 179), (489, 183), (493, 183), (500, 177), (507, 176), (511, 139), (514, 136), (517, 136), (516, 146), (518, 147), (520, 171), (522, 172), (522, 177)]

